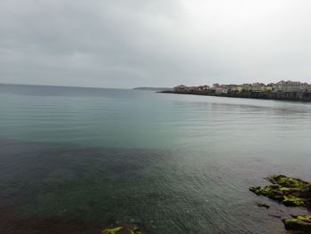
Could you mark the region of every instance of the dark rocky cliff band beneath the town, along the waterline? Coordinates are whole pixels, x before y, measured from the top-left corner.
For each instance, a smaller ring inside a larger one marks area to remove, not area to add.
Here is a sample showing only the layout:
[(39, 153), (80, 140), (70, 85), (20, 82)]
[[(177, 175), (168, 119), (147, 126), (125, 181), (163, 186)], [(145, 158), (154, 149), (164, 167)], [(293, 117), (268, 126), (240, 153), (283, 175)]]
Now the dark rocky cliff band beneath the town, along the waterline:
[(157, 93), (173, 93), (173, 94), (193, 94), (203, 96), (216, 96), (228, 98), (248, 98), (248, 99), (264, 99), (264, 100), (279, 100), (279, 101), (310, 101), (311, 93), (299, 92), (283, 92), (283, 93), (268, 93), (268, 92), (243, 92), (243, 93), (207, 93), (207, 92), (176, 92), (176, 91), (159, 91)]

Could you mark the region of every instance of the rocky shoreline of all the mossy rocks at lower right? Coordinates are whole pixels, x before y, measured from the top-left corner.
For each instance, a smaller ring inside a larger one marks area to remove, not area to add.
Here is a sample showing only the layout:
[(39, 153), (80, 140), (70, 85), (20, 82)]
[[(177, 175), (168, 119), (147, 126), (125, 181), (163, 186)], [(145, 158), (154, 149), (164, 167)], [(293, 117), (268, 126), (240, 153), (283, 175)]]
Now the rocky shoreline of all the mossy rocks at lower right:
[[(278, 201), (284, 206), (303, 206), (311, 209), (311, 182), (275, 174), (267, 178), (271, 185), (251, 187), (249, 190), (258, 196)], [(259, 204), (259, 206), (266, 206)], [(282, 220), (286, 230), (297, 230), (299, 233), (311, 233), (311, 215), (291, 214)]]

